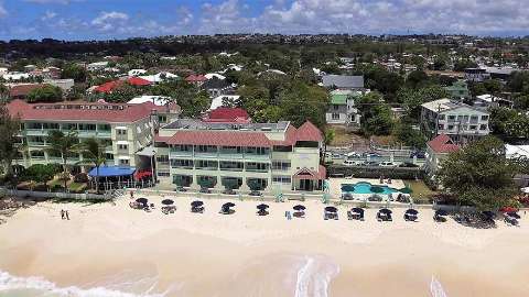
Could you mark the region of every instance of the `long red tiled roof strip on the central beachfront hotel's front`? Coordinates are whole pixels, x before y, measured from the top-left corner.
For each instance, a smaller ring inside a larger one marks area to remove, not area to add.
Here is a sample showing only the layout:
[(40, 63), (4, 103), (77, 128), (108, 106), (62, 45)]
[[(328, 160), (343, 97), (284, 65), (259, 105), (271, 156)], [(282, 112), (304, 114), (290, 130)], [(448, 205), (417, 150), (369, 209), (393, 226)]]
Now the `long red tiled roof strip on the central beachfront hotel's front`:
[(259, 146), (269, 147), (271, 142), (262, 132), (240, 131), (177, 131), (168, 144)]

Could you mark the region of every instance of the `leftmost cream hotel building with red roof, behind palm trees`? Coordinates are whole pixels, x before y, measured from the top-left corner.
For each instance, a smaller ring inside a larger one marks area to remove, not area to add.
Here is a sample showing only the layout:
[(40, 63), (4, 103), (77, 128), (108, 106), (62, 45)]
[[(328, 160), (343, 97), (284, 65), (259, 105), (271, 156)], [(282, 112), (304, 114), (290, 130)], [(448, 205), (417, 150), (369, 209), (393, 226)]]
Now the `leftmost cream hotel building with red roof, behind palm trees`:
[[(156, 106), (153, 102), (138, 105), (106, 102), (28, 103), (13, 100), (8, 105), (12, 116), (20, 118), (21, 142), (26, 154), (17, 160), (19, 165), (61, 163), (61, 156), (47, 152), (46, 136), (52, 130), (76, 131), (79, 141), (96, 138), (107, 144), (108, 165), (132, 166), (141, 169), (150, 166), (136, 153), (152, 143), (153, 130), (160, 117), (180, 113), (180, 108)], [(78, 154), (68, 160), (74, 165), (83, 161)], [(74, 170), (88, 169), (78, 167)]]

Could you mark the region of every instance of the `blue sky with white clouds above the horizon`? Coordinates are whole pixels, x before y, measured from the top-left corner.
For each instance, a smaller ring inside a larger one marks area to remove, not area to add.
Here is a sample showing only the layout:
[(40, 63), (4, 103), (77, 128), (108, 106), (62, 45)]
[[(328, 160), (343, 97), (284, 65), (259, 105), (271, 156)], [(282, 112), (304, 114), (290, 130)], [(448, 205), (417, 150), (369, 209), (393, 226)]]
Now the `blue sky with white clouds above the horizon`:
[(215, 33), (529, 35), (529, 0), (0, 0), (0, 40)]

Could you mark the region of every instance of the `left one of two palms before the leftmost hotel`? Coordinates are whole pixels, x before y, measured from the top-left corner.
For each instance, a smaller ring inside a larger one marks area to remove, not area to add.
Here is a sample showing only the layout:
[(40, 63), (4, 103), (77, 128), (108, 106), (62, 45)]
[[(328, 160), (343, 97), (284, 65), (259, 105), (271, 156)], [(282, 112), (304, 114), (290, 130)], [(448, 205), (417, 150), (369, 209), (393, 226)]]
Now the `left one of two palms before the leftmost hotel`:
[(67, 134), (64, 134), (63, 131), (53, 130), (47, 134), (46, 142), (48, 145), (46, 148), (47, 152), (61, 155), (61, 160), (63, 161), (64, 191), (66, 191), (68, 182), (66, 178), (68, 176), (67, 158), (74, 153), (77, 153), (79, 148), (77, 132), (68, 131)]

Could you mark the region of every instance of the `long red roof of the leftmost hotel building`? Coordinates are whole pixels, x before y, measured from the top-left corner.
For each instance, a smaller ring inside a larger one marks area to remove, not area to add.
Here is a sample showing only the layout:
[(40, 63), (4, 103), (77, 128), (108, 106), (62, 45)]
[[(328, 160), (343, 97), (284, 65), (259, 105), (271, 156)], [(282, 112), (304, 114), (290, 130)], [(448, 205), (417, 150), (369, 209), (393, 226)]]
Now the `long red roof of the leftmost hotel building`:
[[(82, 106), (84, 109), (80, 109)], [(22, 100), (13, 100), (8, 105), (9, 112), (13, 116), (18, 114), (23, 121), (100, 121), (110, 123), (134, 122), (150, 117), (153, 109), (163, 110), (164, 108), (156, 107), (152, 102), (141, 105), (87, 102), (30, 105)]]

